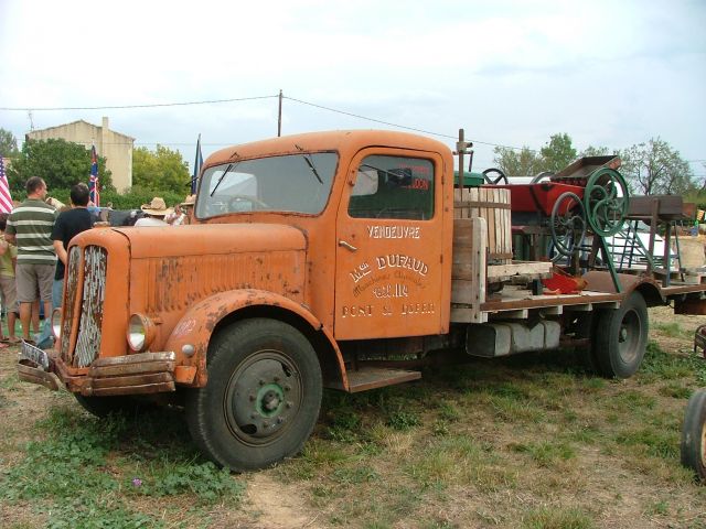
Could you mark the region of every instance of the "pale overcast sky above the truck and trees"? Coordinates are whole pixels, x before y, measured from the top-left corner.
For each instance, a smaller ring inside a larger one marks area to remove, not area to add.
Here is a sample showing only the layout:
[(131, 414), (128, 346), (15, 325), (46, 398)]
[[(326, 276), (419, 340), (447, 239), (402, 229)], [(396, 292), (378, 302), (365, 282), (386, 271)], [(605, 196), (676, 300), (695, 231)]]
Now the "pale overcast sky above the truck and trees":
[[(281, 89), (285, 134), (397, 125), (453, 147), (464, 128), (478, 170), (484, 143), (661, 137), (706, 173), (705, 0), (0, 0), (0, 127), (20, 141), (108, 116), (191, 163), (199, 133), (204, 155), (276, 136), (277, 98), (248, 98)], [(247, 100), (42, 110), (216, 99)]]

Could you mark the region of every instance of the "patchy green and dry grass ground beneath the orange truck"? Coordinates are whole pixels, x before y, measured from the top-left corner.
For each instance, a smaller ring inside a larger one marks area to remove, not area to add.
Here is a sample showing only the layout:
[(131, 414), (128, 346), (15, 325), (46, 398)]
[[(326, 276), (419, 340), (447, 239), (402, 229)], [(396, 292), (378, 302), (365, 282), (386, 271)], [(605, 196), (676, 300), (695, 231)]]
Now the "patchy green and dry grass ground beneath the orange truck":
[(99, 421), (20, 382), (0, 352), (0, 519), (10, 528), (702, 528), (706, 487), (680, 465), (703, 316), (650, 310), (639, 374), (606, 380), (571, 352), (427, 369), (324, 392), (298, 457), (231, 475), (182, 415)]

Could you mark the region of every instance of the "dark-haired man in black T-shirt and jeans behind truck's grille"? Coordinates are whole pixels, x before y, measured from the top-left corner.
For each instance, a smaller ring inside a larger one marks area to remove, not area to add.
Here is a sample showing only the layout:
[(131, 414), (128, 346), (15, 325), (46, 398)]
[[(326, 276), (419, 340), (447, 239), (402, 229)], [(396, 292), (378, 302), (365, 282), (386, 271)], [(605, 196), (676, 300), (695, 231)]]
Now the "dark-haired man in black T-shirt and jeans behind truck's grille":
[[(88, 196), (90, 191), (84, 183), (76, 184), (71, 188), (71, 209), (62, 212), (56, 217), (56, 223), (52, 229), (52, 241), (54, 245), (54, 251), (58, 260), (56, 261), (56, 271), (54, 272), (54, 284), (52, 287), (52, 307), (56, 309), (62, 304), (62, 298), (64, 294), (64, 270), (68, 261), (68, 242), (76, 235), (90, 229), (94, 225), (95, 217), (88, 210)], [(51, 322), (51, 317), (49, 319)], [(36, 346), (46, 349), (54, 343), (52, 336), (52, 326), (44, 325), (42, 328), (42, 335), (38, 339)]]

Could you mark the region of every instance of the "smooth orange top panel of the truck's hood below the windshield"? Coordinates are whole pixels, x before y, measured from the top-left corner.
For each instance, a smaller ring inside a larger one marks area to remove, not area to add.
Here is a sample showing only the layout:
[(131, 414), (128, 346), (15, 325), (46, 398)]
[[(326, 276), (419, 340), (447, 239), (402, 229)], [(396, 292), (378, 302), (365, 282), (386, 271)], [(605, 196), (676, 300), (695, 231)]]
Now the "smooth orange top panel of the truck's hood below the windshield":
[(117, 230), (128, 238), (133, 259), (307, 248), (307, 239), (301, 230), (278, 224), (210, 224)]

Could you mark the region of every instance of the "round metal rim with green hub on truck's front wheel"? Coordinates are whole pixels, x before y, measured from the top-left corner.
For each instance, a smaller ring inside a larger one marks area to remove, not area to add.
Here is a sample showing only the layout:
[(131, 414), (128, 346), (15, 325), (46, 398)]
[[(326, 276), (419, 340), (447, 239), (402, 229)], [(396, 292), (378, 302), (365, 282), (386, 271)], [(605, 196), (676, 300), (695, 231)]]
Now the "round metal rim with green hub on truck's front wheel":
[(231, 376), (223, 412), (231, 433), (261, 446), (286, 435), (301, 409), (302, 380), (295, 363), (275, 349), (248, 356)]

